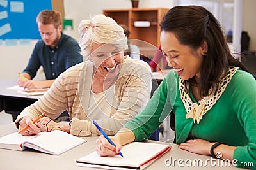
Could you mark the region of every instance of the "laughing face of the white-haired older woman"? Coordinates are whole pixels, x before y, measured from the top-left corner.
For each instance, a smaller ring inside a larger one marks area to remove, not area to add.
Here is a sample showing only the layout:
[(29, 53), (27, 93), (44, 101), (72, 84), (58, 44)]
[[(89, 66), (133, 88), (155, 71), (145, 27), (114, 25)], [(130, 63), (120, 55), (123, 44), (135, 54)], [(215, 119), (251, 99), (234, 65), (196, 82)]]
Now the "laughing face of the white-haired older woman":
[(97, 72), (102, 76), (107, 76), (111, 74), (112, 77), (116, 76), (120, 72), (121, 64), (124, 61), (124, 50), (110, 44), (95, 44), (92, 45), (92, 55), (90, 55), (90, 60), (92, 60)]

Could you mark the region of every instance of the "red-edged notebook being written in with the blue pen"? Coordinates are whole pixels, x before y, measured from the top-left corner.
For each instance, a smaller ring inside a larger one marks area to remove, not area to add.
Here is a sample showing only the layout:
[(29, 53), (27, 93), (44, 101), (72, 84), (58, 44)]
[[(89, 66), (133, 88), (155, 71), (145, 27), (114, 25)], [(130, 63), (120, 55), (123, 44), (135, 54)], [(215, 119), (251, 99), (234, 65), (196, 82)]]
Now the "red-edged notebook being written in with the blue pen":
[(169, 144), (133, 142), (123, 146), (121, 152), (124, 157), (100, 157), (93, 152), (78, 159), (76, 165), (103, 169), (145, 169), (170, 149)]

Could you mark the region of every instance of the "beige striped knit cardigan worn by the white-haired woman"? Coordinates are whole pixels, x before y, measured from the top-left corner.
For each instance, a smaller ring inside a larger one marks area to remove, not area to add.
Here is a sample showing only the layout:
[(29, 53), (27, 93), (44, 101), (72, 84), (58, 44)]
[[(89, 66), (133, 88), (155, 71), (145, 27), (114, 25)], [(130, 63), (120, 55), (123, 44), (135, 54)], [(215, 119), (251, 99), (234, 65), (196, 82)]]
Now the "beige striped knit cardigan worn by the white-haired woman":
[[(29, 115), (38, 117), (44, 111), (53, 120), (67, 110), (72, 120), (70, 134), (81, 136), (100, 135), (90, 118), (87, 117), (93, 64), (86, 61), (70, 67), (54, 81), (52, 87), (38, 101), (25, 108), (15, 121)], [(151, 92), (150, 67), (146, 62), (125, 57), (118, 81), (115, 83), (115, 96), (118, 108), (112, 108), (110, 117), (96, 122), (106, 134), (115, 134), (148, 103)], [(100, 114), (100, 113), (95, 113)]]

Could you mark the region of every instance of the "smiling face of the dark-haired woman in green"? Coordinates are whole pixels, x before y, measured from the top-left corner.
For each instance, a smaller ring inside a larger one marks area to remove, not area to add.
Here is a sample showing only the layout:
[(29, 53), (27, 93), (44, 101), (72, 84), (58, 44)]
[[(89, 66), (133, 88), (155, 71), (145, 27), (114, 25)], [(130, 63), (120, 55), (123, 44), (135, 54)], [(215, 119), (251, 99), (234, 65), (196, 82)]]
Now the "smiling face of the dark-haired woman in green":
[(161, 48), (167, 57), (168, 64), (175, 69), (182, 80), (196, 76), (200, 78), (200, 71), (204, 61), (203, 53), (207, 52), (203, 44), (196, 50), (188, 45), (180, 44), (173, 32), (161, 32)]

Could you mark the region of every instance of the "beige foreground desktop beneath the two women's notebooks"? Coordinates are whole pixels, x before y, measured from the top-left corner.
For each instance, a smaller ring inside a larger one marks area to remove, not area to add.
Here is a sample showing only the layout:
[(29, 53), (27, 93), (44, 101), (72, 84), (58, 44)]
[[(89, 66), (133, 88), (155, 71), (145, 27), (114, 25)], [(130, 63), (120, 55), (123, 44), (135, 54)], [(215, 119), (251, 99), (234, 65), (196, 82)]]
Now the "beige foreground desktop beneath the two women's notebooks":
[[(17, 132), (14, 124), (6, 124), (0, 125), (0, 137), (6, 134), (10, 134), (12, 132)], [(98, 138), (97, 136), (92, 137), (83, 137), (87, 142), (82, 145), (77, 146), (76, 148), (69, 150), (59, 156), (49, 155), (46, 153), (40, 153), (33, 150), (25, 150), (25, 151), (16, 151), (16, 150), (5, 150), (0, 149), (0, 158), (1, 164), (0, 169), (32, 169), (35, 168), (37, 170), (47, 170), (47, 169), (92, 169), (88, 167), (79, 167), (76, 166), (76, 160), (80, 157), (83, 157), (89, 153), (95, 151), (95, 140)], [(157, 142), (157, 141), (150, 141)], [(205, 162), (207, 159), (211, 160), (211, 157), (204, 155), (197, 155), (194, 153), (187, 152), (185, 150), (180, 150), (177, 145), (171, 144), (172, 150), (166, 153), (160, 159), (157, 159), (156, 162), (147, 167), (147, 170), (151, 169), (188, 169), (188, 166), (183, 162), (184, 167), (178, 165), (178, 160), (188, 161), (191, 160), (202, 160)], [(125, 155), (124, 155), (125, 156)], [(175, 166), (166, 166), (164, 162), (166, 159), (172, 158), (176, 160)], [(237, 169), (236, 167), (230, 166), (211, 166), (208, 161), (207, 167), (205, 166), (191, 166), (189, 169)], [(95, 170), (95, 169), (94, 169)]]

